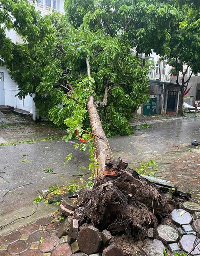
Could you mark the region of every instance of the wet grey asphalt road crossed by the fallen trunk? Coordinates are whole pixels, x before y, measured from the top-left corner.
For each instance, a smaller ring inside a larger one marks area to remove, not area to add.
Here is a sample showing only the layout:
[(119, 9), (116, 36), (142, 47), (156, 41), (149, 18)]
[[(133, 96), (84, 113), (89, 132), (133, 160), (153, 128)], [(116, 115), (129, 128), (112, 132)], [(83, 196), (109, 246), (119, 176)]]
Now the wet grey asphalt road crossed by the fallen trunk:
[[(42, 137), (42, 131), (40, 133)], [(173, 152), (172, 146), (188, 146), (194, 139), (200, 140), (200, 119), (151, 124), (149, 129), (141, 129), (131, 136), (110, 138), (109, 143), (116, 158), (121, 156), (135, 163)], [(52, 185), (67, 185), (77, 171), (85, 171), (80, 167), (87, 166), (88, 154), (75, 151), (73, 143), (59, 139), (0, 147), (0, 175), (4, 178), (0, 178), (0, 209), (8, 213), (29, 205), (37, 197), (35, 188), (44, 190)], [(65, 165), (65, 157), (71, 152), (73, 159)], [(53, 169), (56, 174), (45, 173), (45, 168)], [(28, 183), (31, 184), (23, 186)], [(18, 188), (13, 189), (15, 187)]]

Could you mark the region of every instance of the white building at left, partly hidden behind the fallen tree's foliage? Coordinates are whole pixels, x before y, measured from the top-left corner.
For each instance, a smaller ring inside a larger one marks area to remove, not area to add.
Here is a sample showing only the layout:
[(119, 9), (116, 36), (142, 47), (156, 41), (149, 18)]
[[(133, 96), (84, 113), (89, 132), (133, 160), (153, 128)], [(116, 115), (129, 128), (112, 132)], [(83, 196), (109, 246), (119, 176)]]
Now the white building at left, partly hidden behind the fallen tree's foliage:
[[(52, 11), (64, 13), (64, 0), (38, 0), (30, 4), (35, 6), (36, 11), (40, 11), (41, 15), (52, 13)], [(15, 31), (6, 31), (7, 37), (11, 38), (14, 43), (21, 43), (21, 38)], [(15, 97), (19, 92), (17, 84), (11, 79), (8, 70), (0, 66), (0, 105), (9, 105), (17, 109), (22, 109), (33, 113), (35, 119), (35, 104), (32, 97), (27, 95), (24, 100)]]

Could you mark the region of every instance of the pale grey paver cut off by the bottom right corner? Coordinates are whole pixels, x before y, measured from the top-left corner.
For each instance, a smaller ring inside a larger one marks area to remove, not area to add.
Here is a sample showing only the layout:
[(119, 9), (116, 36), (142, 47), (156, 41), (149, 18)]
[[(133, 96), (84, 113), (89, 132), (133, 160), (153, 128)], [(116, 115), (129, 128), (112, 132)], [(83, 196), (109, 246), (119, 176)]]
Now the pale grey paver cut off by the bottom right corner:
[[(198, 244), (200, 241), (200, 238), (197, 238), (193, 234), (186, 234), (183, 235), (183, 237), (180, 240), (180, 246), (185, 252), (190, 252), (191, 249)], [(195, 249), (190, 252), (191, 255), (199, 255), (200, 252), (200, 244), (198, 244)]]

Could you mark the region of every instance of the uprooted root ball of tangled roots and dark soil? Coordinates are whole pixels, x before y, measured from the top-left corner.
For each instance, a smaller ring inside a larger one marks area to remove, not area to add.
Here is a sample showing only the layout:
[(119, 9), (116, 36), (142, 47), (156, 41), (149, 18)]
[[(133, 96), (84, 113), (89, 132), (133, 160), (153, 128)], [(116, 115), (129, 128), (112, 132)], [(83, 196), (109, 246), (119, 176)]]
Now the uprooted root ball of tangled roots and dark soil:
[(81, 206), (80, 225), (92, 222), (99, 230), (143, 239), (148, 228), (157, 226), (158, 216), (168, 216), (175, 201), (151, 183), (121, 170), (117, 177), (98, 179), (91, 197)]

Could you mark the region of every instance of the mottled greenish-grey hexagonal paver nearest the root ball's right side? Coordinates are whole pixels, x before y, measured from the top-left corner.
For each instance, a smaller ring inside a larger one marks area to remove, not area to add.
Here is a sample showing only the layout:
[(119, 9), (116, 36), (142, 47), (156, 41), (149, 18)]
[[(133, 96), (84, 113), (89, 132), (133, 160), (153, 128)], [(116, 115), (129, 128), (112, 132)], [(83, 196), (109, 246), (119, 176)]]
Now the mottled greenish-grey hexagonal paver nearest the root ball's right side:
[(179, 239), (179, 234), (176, 229), (168, 225), (160, 225), (157, 228), (158, 237), (165, 243), (176, 243)]

